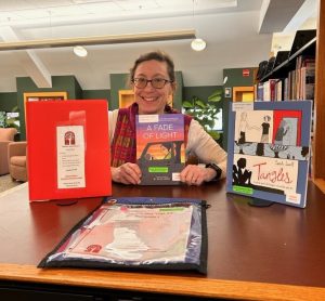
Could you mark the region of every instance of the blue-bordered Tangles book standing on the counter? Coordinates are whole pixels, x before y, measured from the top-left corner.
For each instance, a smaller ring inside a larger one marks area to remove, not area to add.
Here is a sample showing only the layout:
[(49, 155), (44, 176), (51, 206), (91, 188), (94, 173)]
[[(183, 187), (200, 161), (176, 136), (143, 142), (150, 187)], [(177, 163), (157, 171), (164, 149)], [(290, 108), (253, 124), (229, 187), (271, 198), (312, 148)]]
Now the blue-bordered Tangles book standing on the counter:
[(306, 207), (310, 101), (231, 104), (226, 191)]

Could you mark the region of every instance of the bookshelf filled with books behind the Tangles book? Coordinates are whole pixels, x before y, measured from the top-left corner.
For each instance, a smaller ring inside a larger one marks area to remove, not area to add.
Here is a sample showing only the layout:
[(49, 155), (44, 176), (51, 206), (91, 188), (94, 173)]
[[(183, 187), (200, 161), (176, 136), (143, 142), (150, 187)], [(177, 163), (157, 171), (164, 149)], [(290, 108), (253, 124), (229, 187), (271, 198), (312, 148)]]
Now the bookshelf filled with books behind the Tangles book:
[[(258, 101), (313, 100), (316, 29), (298, 30), (290, 51), (280, 51), (255, 86)], [(271, 66), (270, 66), (271, 65)]]

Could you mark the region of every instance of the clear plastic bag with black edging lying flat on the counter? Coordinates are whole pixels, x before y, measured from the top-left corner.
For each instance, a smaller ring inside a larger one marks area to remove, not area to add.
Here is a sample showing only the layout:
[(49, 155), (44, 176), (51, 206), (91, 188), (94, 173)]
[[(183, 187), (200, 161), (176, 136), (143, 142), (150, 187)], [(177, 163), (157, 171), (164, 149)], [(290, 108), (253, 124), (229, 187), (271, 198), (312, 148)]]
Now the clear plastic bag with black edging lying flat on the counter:
[(197, 270), (206, 273), (205, 201), (107, 198), (39, 267)]

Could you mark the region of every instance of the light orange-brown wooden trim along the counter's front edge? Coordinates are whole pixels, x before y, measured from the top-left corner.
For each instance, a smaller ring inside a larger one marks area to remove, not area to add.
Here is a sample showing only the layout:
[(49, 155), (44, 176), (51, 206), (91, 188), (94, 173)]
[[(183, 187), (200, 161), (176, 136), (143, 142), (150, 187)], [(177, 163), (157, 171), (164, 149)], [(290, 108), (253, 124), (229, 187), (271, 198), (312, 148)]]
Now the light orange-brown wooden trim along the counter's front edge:
[(325, 300), (325, 288), (113, 271), (0, 264), (0, 279), (240, 300)]

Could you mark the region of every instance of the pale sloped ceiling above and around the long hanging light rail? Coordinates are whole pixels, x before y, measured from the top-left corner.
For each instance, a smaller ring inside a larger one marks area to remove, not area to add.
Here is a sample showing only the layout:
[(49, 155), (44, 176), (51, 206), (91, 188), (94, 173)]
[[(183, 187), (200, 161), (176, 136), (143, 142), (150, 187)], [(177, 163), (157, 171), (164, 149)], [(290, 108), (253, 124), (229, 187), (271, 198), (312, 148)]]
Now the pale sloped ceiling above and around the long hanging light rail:
[[(195, 29), (191, 40), (0, 51), (0, 92), (16, 91), (16, 77), (51, 87), (51, 76), (75, 75), (83, 90), (109, 89), (109, 74), (128, 73), (139, 54), (168, 52), (186, 87), (222, 84), (222, 69), (257, 66), (268, 60), (273, 32), (291, 35), (310, 17), (317, 0), (0, 0), (1, 44), (44, 39)], [(311, 25), (314, 26), (314, 25)], [(273, 42), (274, 43), (274, 42)]]

